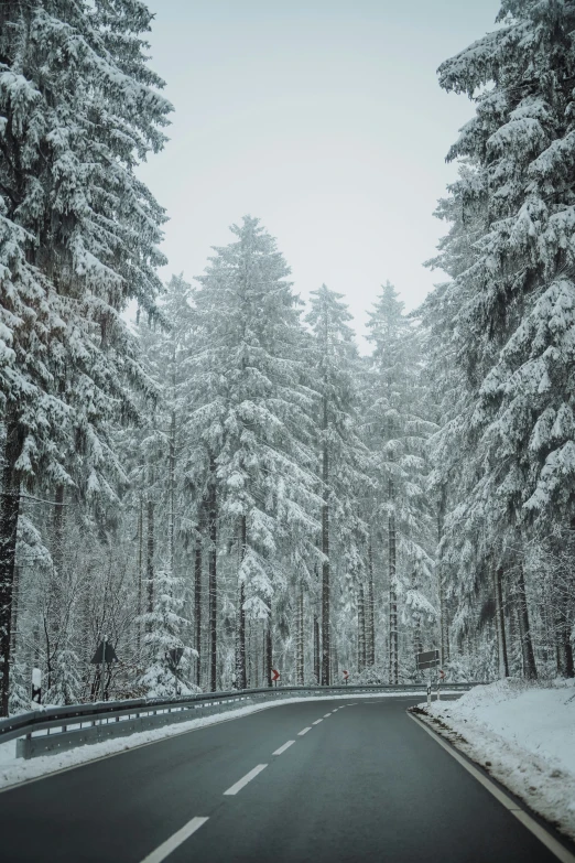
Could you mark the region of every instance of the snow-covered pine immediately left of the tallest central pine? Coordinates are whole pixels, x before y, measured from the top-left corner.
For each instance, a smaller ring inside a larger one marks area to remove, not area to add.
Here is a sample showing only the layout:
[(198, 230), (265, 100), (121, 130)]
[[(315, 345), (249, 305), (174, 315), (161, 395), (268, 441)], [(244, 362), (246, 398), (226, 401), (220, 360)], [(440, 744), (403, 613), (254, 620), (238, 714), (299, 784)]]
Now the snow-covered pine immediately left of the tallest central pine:
[[(131, 481), (131, 488), (124, 496), (124, 509), (138, 537), (135, 635), (140, 646), (143, 582), (147, 581), (145, 606), (148, 613), (152, 613), (156, 561), (162, 561), (173, 575), (191, 575), (193, 569), (191, 547), (196, 541), (200, 498), (192, 482), (196, 447), (186, 430), (194, 400), (188, 366), (195, 335), (192, 302), (192, 287), (182, 276), (174, 276), (159, 304), (162, 325), (156, 321), (142, 321), (137, 325), (142, 362), (160, 396), (139, 428), (116, 435)], [(186, 603), (191, 600), (189, 586), (186, 581)], [(200, 614), (202, 608), (197, 611)], [(184, 614), (191, 616), (187, 606)], [(187, 633), (186, 637), (189, 636)], [(138, 659), (145, 661), (145, 656)]]

